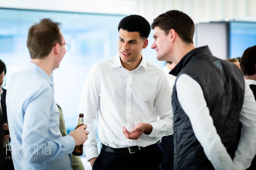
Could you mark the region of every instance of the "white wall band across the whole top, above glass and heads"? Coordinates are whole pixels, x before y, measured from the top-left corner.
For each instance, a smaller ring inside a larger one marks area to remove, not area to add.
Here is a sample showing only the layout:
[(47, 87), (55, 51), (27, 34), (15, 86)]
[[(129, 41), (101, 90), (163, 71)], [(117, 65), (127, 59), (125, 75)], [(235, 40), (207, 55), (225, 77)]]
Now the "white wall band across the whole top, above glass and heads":
[(0, 8), (69, 11), (98, 14), (139, 14), (150, 23), (168, 10), (181, 10), (195, 23), (256, 21), (256, 0), (0, 0)]

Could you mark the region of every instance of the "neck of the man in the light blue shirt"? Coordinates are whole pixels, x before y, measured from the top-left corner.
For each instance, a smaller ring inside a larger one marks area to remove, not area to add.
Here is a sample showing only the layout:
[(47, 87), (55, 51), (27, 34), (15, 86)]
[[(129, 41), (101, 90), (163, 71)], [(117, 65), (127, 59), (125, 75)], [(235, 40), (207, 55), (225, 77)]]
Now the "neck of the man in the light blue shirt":
[(54, 70), (54, 69), (52, 69), (53, 67), (51, 66), (51, 64), (49, 62), (49, 57), (31, 59), (30, 62), (38, 65), (49, 76), (51, 75), (52, 71)]

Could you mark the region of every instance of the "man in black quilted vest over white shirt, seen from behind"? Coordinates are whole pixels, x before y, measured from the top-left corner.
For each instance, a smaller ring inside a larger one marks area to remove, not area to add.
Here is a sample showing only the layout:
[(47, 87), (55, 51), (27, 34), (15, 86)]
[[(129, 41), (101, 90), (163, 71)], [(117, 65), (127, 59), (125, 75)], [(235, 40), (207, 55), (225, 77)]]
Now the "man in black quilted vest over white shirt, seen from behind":
[[(241, 71), (193, 45), (194, 23), (171, 10), (152, 23), (157, 59), (172, 61), (174, 169), (245, 169), (256, 153), (256, 102)], [(236, 150), (239, 121), (243, 124)]]

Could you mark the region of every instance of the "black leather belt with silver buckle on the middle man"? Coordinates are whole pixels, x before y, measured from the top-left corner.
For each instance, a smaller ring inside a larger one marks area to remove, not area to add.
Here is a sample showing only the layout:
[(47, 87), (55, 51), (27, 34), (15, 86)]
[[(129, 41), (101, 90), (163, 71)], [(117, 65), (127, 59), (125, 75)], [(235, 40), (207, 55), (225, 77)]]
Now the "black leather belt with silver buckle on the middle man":
[[(159, 140), (157, 143), (161, 142), (161, 140)], [(148, 145), (146, 147), (142, 147), (142, 146), (129, 146), (127, 148), (111, 148), (109, 146), (106, 146), (104, 144), (101, 144), (101, 149), (103, 151), (107, 151), (107, 152), (111, 152), (111, 153), (121, 153), (121, 154), (133, 154), (136, 153), (138, 151), (141, 151), (143, 149), (147, 149), (147, 148), (151, 148), (153, 146), (156, 146), (157, 143), (153, 144), (153, 145)]]

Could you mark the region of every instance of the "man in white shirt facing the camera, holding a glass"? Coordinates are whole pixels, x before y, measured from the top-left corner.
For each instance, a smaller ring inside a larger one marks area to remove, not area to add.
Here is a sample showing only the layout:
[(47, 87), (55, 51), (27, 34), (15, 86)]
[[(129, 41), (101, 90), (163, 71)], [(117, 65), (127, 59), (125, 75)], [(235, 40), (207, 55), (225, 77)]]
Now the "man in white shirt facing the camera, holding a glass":
[[(123, 18), (118, 25), (119, 53), (94, 64), (86, 77), (80, 113), (90, 132), (85, 153), (93, 169), (158, 169), (163, 161), (157, 142), (172, 133), (171, 93), (164, 71), (142, 57), (150, 30), (140, 15)], [(138, 124), (130, 133), (125, 125), (134, 121)], [(129, 139), (134, 146), (126, 145)]]

